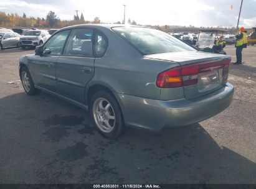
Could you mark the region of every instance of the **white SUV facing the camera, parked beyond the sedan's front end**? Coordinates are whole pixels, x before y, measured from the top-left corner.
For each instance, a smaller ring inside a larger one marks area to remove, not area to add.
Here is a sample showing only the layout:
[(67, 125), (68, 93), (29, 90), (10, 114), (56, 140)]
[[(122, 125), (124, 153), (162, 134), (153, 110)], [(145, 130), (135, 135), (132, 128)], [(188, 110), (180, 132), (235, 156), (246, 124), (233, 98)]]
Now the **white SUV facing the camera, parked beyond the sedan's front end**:
[(36, 47), (44, 44), (49, 37), (50, 34), (47, 30), (27, 30), (19, 40), (19, 44), (22, 48)]

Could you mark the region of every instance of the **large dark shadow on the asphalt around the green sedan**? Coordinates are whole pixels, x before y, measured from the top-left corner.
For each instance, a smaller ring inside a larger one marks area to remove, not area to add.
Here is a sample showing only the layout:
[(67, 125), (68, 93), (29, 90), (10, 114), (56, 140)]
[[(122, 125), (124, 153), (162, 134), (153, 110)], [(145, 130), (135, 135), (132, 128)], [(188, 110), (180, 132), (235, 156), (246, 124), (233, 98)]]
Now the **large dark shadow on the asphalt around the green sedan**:
[(0, 183), (256, 181), (255, 162), (217, 144), (200, 124), (131, 128), (109, 141), (86, 111), (46, 93), (12, 94), (0, 108)]

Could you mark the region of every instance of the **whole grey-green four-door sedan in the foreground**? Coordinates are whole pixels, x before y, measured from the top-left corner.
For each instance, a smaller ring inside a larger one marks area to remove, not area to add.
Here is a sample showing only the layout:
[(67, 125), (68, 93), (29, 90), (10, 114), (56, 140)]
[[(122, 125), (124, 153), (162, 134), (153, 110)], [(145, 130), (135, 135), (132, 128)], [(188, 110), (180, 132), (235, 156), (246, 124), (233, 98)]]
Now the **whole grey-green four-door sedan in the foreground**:
[(89, 110), (109, 139), (128, 126), (159, 131), (211, 118), (234, 94), (229, 56), (147, 27), (65, 27), (19, 62), (27, 94), (46, 91)]

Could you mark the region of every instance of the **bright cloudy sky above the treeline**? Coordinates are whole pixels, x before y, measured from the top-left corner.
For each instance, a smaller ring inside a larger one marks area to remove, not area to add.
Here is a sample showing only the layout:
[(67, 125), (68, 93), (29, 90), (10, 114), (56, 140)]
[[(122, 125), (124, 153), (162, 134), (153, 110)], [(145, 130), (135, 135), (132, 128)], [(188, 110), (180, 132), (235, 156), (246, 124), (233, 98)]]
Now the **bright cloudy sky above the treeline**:
[[(235, 26), (239, 15), (240, 0), (1, 0), (0, 11), (22, 16), (45, 17), (54, 11), (63, 19), (73, 19), (79, 10), (85, 20), (100, 17), (102, 22), (123, 20), (126, 4), (126, 21), (152, 25)], [(230, 9), (233, 5), (233, 10)], [(244, 0), (240, 24), (256, 26), (256, 0)]]

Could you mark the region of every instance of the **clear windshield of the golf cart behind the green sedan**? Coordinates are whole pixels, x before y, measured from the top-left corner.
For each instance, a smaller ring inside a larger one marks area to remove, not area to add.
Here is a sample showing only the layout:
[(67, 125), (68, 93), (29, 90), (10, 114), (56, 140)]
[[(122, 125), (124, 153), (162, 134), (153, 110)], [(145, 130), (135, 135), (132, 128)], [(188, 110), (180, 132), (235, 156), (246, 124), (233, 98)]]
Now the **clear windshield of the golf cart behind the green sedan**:
[(199, 48), (212, 48), (214, 45), (215, 37), (216, 33), (214, 32), (200, 32), (196, 45)]

